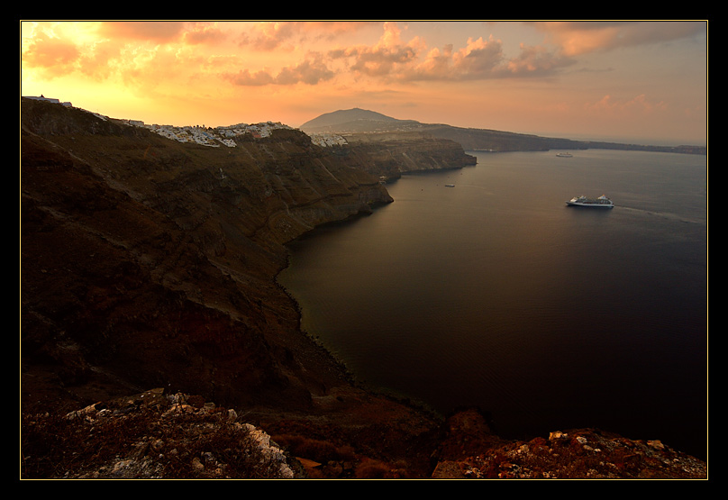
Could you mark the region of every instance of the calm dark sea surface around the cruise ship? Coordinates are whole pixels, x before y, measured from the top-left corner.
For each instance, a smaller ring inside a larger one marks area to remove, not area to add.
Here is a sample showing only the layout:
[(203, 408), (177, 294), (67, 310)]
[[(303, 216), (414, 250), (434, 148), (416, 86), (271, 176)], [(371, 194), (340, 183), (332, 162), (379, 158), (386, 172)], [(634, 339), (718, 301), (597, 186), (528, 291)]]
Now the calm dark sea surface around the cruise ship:
[[(362, 380), (480, 405), (504, 437), (599, 427), (706, 458), (705, 157), (477, 156), (291, 245), (279, 281), (305, 330)], [(564, 203), (603, 194), (614, 209)]]

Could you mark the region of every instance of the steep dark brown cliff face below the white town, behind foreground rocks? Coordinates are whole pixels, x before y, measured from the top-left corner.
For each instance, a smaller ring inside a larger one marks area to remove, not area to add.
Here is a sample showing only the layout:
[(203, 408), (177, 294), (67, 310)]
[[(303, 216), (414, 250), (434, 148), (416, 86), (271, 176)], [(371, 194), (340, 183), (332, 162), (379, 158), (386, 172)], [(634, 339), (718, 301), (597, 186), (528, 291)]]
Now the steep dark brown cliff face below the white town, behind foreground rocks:
[(390, 202), (376, 178), (301, 132), (206, 148), (40, 102), (21, 141), (24, 405), (178, 386), (307, 406), (338, 383), (273, 277), (285, 242)]

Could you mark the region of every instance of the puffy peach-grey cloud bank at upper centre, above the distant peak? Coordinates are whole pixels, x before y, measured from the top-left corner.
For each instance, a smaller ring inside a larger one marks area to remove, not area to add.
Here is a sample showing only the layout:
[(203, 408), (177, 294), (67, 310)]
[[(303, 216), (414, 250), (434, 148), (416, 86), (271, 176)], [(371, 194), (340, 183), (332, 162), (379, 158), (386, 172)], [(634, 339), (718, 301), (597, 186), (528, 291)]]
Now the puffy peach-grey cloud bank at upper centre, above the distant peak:
[[(350, 23), (258, 23), (243, 43), (257, 50), (286, 46), (293, 50), (296, 36), (309, 35), (318, 28), (327, 33), (357, 31), (361, 24)], [(543, 47), (522, 45), (512, 59), (506, 59), (503, 43), (492, 35), (469, 38), (464, 47), (452, 44), (428, 48), (426, 41), (414, 36), (404, 40), (398, 23), (383, 23), (373, 44), (341, 46), (325, 53), (310, 52), (296, 64), (278, 71), (243, 68), (225, 78), (237, 86), (316, 85), (334, 77), (369, 78), (384, 83), (423, 81), (467, 81), (504, 77), (543, 77), (555, 74), (574, 63), (573, 59)], [(320, 35), (319, 38), (323, 37)]]

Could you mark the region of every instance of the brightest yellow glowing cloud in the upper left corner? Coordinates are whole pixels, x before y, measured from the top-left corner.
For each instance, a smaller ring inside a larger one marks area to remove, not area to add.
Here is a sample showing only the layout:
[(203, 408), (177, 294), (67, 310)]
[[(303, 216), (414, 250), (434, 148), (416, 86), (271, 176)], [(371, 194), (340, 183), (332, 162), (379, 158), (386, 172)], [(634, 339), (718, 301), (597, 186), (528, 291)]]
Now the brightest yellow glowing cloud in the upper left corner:
[(204, 50), (226, 38), (217, 23), (24, 22), (21, 58), (23, 72), (39, 80), (81, 77), (149, 92), (170, 75), (196, 78), (230, 60)]

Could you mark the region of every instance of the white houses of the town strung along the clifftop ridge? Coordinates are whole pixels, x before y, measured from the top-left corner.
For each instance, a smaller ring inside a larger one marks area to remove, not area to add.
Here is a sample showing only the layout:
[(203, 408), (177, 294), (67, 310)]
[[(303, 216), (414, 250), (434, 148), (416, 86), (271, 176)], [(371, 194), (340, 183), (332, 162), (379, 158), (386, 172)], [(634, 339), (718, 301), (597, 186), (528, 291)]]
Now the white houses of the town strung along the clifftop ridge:
[[(25, 96), (23, 96), (25, 97)], [(35, 99), (39, 101), (47, 101), (50, 103), (55, 103), (59, 105), (64, 105), (67, 107), (73, 107), (70, 103), (61, 103), (59, 99), (53, 99), (49, 97), (44, 97), (43, 95), (35, 97), (35, 96), (27, 96), (25, 97), (27, 99)], [(95, 114), (99, 118), (103, 120), (108, 120), (109, 118), (107, 116), (103, 116), (100, 114)], [(177, 127), (173, 125), (145, 125), (143, 122), (139, 120), (122, 120), (123, 123), (126, 123), (128, 125), (132, 125), (135, 127), (144, 127), (149, 129), (151, 132), (158, 133), (159, 135), (163, 137), (167, 137), (168, 139), (172, 139), (174, 141), (180, 141), (180, 142), (195, 142), (197, 144), (202, 144), (203, 146), (210, 146), (213, 148), (219, 148), (221, 145), (227, 146), (229, 148), (235, 147), (235, 141), (233, 139), (239, 135), (250, 133), (254, 138), (260, 139), (263, 137), (268, 137), (271, 132), (273, 132), (276, 129), (292, 129), (292, 127), (289, 127), (288, 125), (284, 125), (283, 123), (273, 123), (273, 122), (266, 122), (266, 123), (251, 123), (251, 124), (245, 124), (245, 123), (239, 123), (237, 125), (229, 125), (225, 127), (216, 127), (214, 129), (212, 128), (206, 128), (205, 126), (185, 126), (185, 127)], [(322, 147), (331, 147), (331, 146), (341, 146), (346, 143), (346, 140), (341, 137), (340, 135), (333, 135), (333, 134), (312, 134), (311, 135), (311, 141)]]

